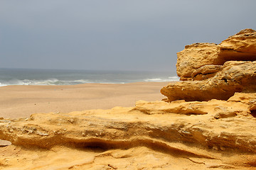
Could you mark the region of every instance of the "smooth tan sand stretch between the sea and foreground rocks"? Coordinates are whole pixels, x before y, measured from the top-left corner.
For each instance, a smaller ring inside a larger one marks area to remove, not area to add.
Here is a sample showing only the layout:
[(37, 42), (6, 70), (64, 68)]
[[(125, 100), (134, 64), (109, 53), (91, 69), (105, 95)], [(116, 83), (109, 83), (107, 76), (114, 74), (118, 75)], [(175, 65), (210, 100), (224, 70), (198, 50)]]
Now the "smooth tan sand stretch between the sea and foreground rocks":
[(69, 113), (89, 109), (132, 107), (136, 101), (161, 101), (164, 83), (79, 84), (73, 86), (1, 86), (0, 117), (33, 113)]

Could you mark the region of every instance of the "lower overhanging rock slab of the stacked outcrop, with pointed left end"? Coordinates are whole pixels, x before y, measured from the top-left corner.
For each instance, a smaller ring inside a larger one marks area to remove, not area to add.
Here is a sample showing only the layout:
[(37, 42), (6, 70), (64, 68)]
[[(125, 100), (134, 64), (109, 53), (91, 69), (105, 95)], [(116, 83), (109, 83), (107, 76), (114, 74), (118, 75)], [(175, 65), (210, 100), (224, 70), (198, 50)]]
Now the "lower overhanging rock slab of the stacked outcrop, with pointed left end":
[(225, 62), (223, 69), (205, 81), (179, 81), (164, 86), (169, 101), (228, 100), (235, 92), (256, 91), (255, 62)]

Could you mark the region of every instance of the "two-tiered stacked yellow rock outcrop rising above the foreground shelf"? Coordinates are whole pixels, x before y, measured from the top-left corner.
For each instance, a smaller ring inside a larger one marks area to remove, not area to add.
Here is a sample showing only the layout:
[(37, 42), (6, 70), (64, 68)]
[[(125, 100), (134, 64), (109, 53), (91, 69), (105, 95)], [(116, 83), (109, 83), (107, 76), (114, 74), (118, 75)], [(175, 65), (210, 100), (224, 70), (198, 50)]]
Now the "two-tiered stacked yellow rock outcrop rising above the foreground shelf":
[(256, 31), (241, 30), (219, 45), (196, 43), (177, 53), (178, 83), (161, 89), (169, 101), (228, 100), (256, 91)]

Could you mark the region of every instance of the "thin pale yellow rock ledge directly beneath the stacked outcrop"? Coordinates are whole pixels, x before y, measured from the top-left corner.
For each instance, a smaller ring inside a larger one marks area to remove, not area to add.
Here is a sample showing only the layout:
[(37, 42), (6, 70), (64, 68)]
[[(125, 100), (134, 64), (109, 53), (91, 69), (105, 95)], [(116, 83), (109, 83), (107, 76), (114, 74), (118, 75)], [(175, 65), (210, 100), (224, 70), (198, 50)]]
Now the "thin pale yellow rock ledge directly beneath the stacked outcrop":
[[(252, 105), (252, 104), (251, 104)], [(247, 115), (252, 107), (250, 103), (228, 101), (138, 101), (132, 111), (141, 111), (149, 115), (152, 114), (179, 114), (181, 115), (213, 115), (214, 118), (228, 118), (236, 115)], [(235, 107), (234, 107), (235, 106)], [(253, 105), (255, 106), (255, 105)]]

